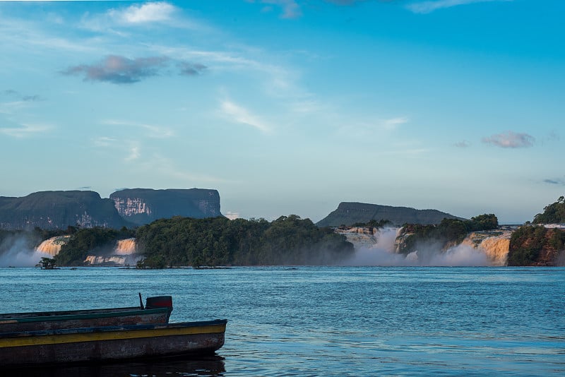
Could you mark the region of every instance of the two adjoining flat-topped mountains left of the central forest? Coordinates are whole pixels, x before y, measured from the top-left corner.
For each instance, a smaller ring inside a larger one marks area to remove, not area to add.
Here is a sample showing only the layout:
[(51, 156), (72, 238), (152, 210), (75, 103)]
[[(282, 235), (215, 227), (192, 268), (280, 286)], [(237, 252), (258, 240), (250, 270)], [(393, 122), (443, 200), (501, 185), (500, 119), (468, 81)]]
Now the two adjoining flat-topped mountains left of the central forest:
[(94, 191), (40, 191), (21, 198), (0, 196), (0, 229), (120, 228), (158, 218), (216, 217), (220, 194), (202, 188), (133, 188), (100, 198)]

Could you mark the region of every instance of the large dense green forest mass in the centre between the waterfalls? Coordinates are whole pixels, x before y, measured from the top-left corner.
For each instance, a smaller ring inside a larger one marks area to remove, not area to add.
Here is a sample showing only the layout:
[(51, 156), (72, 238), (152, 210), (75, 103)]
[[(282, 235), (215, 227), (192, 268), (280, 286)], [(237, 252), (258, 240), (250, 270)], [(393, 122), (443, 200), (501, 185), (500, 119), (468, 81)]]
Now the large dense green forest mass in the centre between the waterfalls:
[(273, 222), (173, 217), (140, 227), (140, 268), (192, 265), (322, 265), (350, 255), (353, 246), (332, 229), (297, 215)]

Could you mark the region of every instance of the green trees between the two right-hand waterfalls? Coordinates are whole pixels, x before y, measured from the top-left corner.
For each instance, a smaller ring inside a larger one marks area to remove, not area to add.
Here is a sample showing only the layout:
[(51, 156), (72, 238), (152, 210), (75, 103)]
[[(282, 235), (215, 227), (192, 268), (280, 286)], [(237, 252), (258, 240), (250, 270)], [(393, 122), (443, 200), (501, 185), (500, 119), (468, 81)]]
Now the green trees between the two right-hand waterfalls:
[(469, 232), (496, 229), (499, 221), (494, 214), (484, 214), (471, 217), (471, 220), (448, 219), (441, 220), (439, 225), (405, 225), (403, 227), (403, 242), (400, 253), (411, 253), (421, 244), (458, 244)]

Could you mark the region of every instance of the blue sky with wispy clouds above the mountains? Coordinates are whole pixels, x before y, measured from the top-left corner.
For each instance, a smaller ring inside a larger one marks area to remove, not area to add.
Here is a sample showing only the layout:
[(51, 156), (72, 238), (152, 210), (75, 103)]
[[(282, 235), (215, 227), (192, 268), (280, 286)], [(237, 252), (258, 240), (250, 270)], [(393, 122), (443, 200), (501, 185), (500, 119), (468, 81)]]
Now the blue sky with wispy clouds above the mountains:
[(0, 1), (0, 196), (213, 188), (533, 220), (565, 193), (562, 0)]

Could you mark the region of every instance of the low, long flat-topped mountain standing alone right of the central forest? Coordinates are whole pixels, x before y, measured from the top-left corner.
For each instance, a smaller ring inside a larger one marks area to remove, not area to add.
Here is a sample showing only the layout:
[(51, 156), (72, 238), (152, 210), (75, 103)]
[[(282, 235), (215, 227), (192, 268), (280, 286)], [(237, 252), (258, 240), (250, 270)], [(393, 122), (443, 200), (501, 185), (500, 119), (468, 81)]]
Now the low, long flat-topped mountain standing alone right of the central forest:
[(316, 223), (319, 227), (339, 227), (367, 223), (371, 220), (388, 220), (393, 225), (403, 224), (439, 224), (444, 218), (460, 219), (439, 210), (416, 210), (408, 207), (393, 207), (367, 203), (343, 202), (328, 216)]

